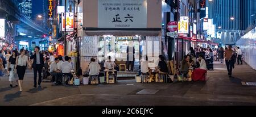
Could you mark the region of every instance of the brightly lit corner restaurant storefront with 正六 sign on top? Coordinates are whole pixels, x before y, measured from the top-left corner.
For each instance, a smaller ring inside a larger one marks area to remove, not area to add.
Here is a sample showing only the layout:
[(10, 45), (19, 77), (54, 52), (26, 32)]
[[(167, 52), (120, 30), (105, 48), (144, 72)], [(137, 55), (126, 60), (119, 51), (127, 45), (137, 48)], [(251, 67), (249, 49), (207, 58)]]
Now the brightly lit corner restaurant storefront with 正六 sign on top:
[(128, 46), (135, 49), (135, 71), (139, 69), (139, 60), (145, 55), (150, 67), (158, 65), (158, 56), (162, 55), (161, 2), (84, 0), (79, 5), (79, 11), (78, 14), (82, 14), (82, 18), (78, 18), (82, 30), (77, 36), (80, 37), (83, 71), (91, 57), (104, 63), (111, 56), (116, 64), (125, 64)]

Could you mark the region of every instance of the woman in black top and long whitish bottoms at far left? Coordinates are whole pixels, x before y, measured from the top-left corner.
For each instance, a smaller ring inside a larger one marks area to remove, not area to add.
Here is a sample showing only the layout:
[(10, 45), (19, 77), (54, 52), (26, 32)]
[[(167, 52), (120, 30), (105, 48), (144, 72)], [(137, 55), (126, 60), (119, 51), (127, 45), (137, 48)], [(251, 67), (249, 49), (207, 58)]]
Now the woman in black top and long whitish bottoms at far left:
[(10, 81), (10, 86), (13, 87), (13, 82), (16, 81), (16, 86), (18, 86), (18, 78), (17, 75), (14, 71), (15, 65), (16, 65), (16, 58), (18, 55), (16, 54), (16, 51), (13, 51), (11, 57), (8, 60), (8, 71), (10, 73), (9, 76), (9, 81)]

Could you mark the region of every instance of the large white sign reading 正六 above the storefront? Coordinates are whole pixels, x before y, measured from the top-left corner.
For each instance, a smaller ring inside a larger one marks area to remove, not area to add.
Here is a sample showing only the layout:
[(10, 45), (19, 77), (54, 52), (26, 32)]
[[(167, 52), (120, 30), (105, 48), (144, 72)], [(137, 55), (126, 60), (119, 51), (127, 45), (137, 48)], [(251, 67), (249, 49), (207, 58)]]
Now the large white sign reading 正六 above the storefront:
[(146, 28), (147, 0), (98, 0), (99, 28)]

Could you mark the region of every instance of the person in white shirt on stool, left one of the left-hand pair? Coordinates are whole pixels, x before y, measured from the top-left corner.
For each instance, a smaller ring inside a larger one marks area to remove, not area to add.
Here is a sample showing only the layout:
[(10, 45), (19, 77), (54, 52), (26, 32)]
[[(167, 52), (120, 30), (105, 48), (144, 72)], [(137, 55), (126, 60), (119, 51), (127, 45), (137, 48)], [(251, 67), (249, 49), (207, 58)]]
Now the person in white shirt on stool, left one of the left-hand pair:
[[(51, 75), (54, 76), (55, 78), (52, 79), (53, 82), (60, 83), (61, 82), (61, 76), (62, 73), (60, 72), (59, 69), (57, 69), (57, 63), (59, 62), (59, 58), (55, 58), (54, 62), (50, 65), (50, 72)], [(56, 81), (55, 81), (56, 79)]]

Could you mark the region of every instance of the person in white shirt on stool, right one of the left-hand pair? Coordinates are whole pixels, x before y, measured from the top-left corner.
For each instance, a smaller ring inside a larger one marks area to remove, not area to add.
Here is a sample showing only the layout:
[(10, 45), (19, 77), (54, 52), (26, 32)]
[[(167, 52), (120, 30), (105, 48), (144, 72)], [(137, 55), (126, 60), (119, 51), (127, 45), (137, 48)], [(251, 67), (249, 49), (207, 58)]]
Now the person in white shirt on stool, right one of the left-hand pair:
[[(71, 80), (73, 78), (73, 74), (71, 73), (72, 65), (68, 61), (69, 60), (68, 56), (65, 56), (64, 60), (65, 61), (60, 65), (60, 70), (63, 74), (68, 75)], [(68, 81), (66, 81), (66, 83), (68, 83)]]

